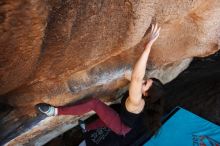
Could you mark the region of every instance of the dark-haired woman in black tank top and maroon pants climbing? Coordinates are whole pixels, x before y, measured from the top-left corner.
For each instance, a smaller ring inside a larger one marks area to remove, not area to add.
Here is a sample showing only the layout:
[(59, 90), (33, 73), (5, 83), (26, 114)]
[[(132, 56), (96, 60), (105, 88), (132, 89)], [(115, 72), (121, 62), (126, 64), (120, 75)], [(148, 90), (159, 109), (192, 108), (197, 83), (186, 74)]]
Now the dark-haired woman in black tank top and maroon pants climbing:
[[(145, 69), (151, 46), (159, 37), (160, 28), (152, 25), (150, 40), (131, 74), (129, 91), (121, 101), (118, 114), (97, 98), (90, 98), (72, 106), (54, 107), (46, 103), (36, 105), (36, 109), (47, 116), (82, 115), (91, 110), (99, 119), (91, 124), (81, 124), (85, 132), (99, 131), (90, 134), (86, 145), (130, 145), (143, 132), (155, 133), (160, 127), (163, 109), (163, 84), (155, 78), (144, 80)], [(101, 129), (101, 132), (100, 132)], [(101, 135), (101, 138), (98, 136)], [(104, 133), (104, 134), (103, 134)]]

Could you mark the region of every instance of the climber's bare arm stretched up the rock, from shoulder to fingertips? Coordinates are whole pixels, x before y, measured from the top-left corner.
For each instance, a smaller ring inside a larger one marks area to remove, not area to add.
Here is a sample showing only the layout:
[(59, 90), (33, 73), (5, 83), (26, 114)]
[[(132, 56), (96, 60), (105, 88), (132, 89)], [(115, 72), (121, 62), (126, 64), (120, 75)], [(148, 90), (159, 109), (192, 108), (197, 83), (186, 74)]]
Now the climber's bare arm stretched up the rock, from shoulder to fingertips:
[[(137, 63), (134, 66), (134, 69), (131, 74), (131, 84), (129, 87), (129, 97), (126, 100), (126, 108), (129, 112), (140, 113), (144, 107), (144, 100), (142, 99), (142, 90), (146, 91), (146, 88), (149, 88), (150, 83), (143, 85), (145, 83), (144, 75), (147, 66), (148, 56), (151, 51), (151, 46), (156, 41), (159, 36), (160, 28), (157, 24), (152, 25), (150, 40), (146, 45), (144, 52), (141, 54)], [(149, 87), (148, 87), (149, 86)]]

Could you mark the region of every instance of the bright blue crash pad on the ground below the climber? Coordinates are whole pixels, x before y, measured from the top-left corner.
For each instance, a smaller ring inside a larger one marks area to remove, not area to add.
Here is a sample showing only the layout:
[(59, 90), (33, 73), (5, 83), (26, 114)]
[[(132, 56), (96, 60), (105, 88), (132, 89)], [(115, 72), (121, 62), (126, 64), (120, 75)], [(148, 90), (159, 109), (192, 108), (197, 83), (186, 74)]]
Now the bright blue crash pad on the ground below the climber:
[(220, 146), (220, 126), (180, 108), (144, 146)]

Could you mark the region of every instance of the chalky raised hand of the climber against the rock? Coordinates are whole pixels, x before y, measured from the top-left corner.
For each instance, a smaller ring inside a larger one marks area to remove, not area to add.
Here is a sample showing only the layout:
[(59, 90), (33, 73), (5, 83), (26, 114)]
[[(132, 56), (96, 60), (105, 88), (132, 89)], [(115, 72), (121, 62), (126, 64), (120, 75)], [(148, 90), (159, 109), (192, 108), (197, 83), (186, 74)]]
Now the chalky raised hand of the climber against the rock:
[(150, 40), (149, 40), (146, 48), (151, 47), (153, 45), (153, 43), (157, 40), (159, 35), (160, 35), (160, 27), (158, 27), (157, 24), (156, 25), (152, 24), (151, 32), (150, 32)]

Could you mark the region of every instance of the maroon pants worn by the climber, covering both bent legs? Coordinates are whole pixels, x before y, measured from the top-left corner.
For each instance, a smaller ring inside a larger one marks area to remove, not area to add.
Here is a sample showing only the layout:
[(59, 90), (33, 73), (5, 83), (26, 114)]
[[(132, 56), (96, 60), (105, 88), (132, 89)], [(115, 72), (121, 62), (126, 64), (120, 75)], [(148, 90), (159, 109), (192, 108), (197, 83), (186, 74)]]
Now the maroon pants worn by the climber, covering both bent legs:
[(121, 118), (116, 111), (97, 98), (90, 98), (69, 107), (58, 107), (58, 115), (80, 116), (91, 110), (95, 111), (100, 119), (86, 126), (86, 130), (108, 127), (119, 135), (125, 135), (131, 130), (131, 128), (121, 121)]

